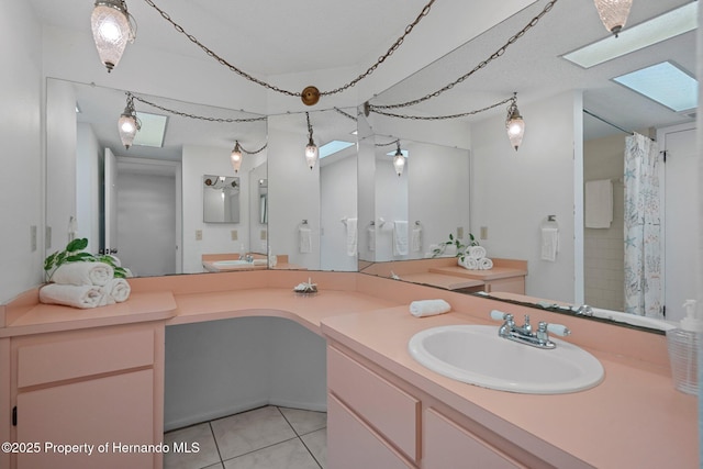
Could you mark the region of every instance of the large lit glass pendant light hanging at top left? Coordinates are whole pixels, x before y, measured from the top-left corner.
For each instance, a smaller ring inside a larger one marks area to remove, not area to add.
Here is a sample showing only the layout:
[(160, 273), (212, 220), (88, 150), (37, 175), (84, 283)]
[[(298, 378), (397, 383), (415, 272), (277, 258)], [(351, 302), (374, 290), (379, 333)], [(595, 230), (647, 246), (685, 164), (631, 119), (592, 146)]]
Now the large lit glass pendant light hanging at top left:
[(136, 23), (124, 0), (97, 0), (90, 16), (92, 38), (108, 72), (118, 66), (127, 42), (136, 37)]

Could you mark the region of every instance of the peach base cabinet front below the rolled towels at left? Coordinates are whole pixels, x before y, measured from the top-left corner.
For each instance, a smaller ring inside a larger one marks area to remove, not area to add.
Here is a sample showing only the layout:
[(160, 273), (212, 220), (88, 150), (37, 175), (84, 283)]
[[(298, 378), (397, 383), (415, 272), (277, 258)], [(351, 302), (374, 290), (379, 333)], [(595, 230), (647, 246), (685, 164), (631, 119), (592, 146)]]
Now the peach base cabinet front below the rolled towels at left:
[(163, 348), (163, 324), (13, 337), (10, 467), (160, 468)]

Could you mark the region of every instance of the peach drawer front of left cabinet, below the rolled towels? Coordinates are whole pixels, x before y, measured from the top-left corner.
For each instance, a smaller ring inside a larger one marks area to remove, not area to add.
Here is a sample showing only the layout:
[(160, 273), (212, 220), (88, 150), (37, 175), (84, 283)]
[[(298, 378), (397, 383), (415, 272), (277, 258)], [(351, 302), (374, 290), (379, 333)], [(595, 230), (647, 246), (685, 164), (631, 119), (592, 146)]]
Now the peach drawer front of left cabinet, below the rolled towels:
[(154, 364), (154, 331), (96, 333), (18, 348), (18, 387), (44, 384)]

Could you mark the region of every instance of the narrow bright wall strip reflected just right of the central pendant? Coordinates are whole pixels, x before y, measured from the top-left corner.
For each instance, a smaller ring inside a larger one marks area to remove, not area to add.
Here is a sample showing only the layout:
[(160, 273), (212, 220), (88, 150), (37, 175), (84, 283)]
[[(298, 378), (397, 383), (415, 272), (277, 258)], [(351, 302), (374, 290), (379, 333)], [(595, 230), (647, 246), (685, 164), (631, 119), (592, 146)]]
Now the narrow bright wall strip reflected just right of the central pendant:
[(347, 254), (347, 228), (342, 223), (344, 217), (357, 217), (356, 166), (357, 158), (350, 156), (320, 168), (322, 270), (358, 269), (358, 248), (354, 256)]

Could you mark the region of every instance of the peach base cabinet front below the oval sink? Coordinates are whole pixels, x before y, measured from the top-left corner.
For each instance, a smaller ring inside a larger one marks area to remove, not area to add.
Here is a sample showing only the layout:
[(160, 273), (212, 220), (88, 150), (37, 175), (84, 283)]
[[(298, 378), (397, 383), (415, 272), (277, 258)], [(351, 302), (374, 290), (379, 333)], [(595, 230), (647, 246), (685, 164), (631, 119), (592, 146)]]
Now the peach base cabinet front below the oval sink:
[[(378, 364), (332, 340), (327, 346), (327, 386), (330, 467), (557, 467)], [(406, 405), (408, 402), (415, 402), (416, 405)], [(403, 439), (403, 433), (394, 431), (399, 427), (410, 429), (416, 443), (416, 446), (411, 446), (410, 453), (409, 440)], [(540, 444), (536, 444), (535, 450), (539, 449)], [(584, 466), (577, 464), (560, 467)]]

